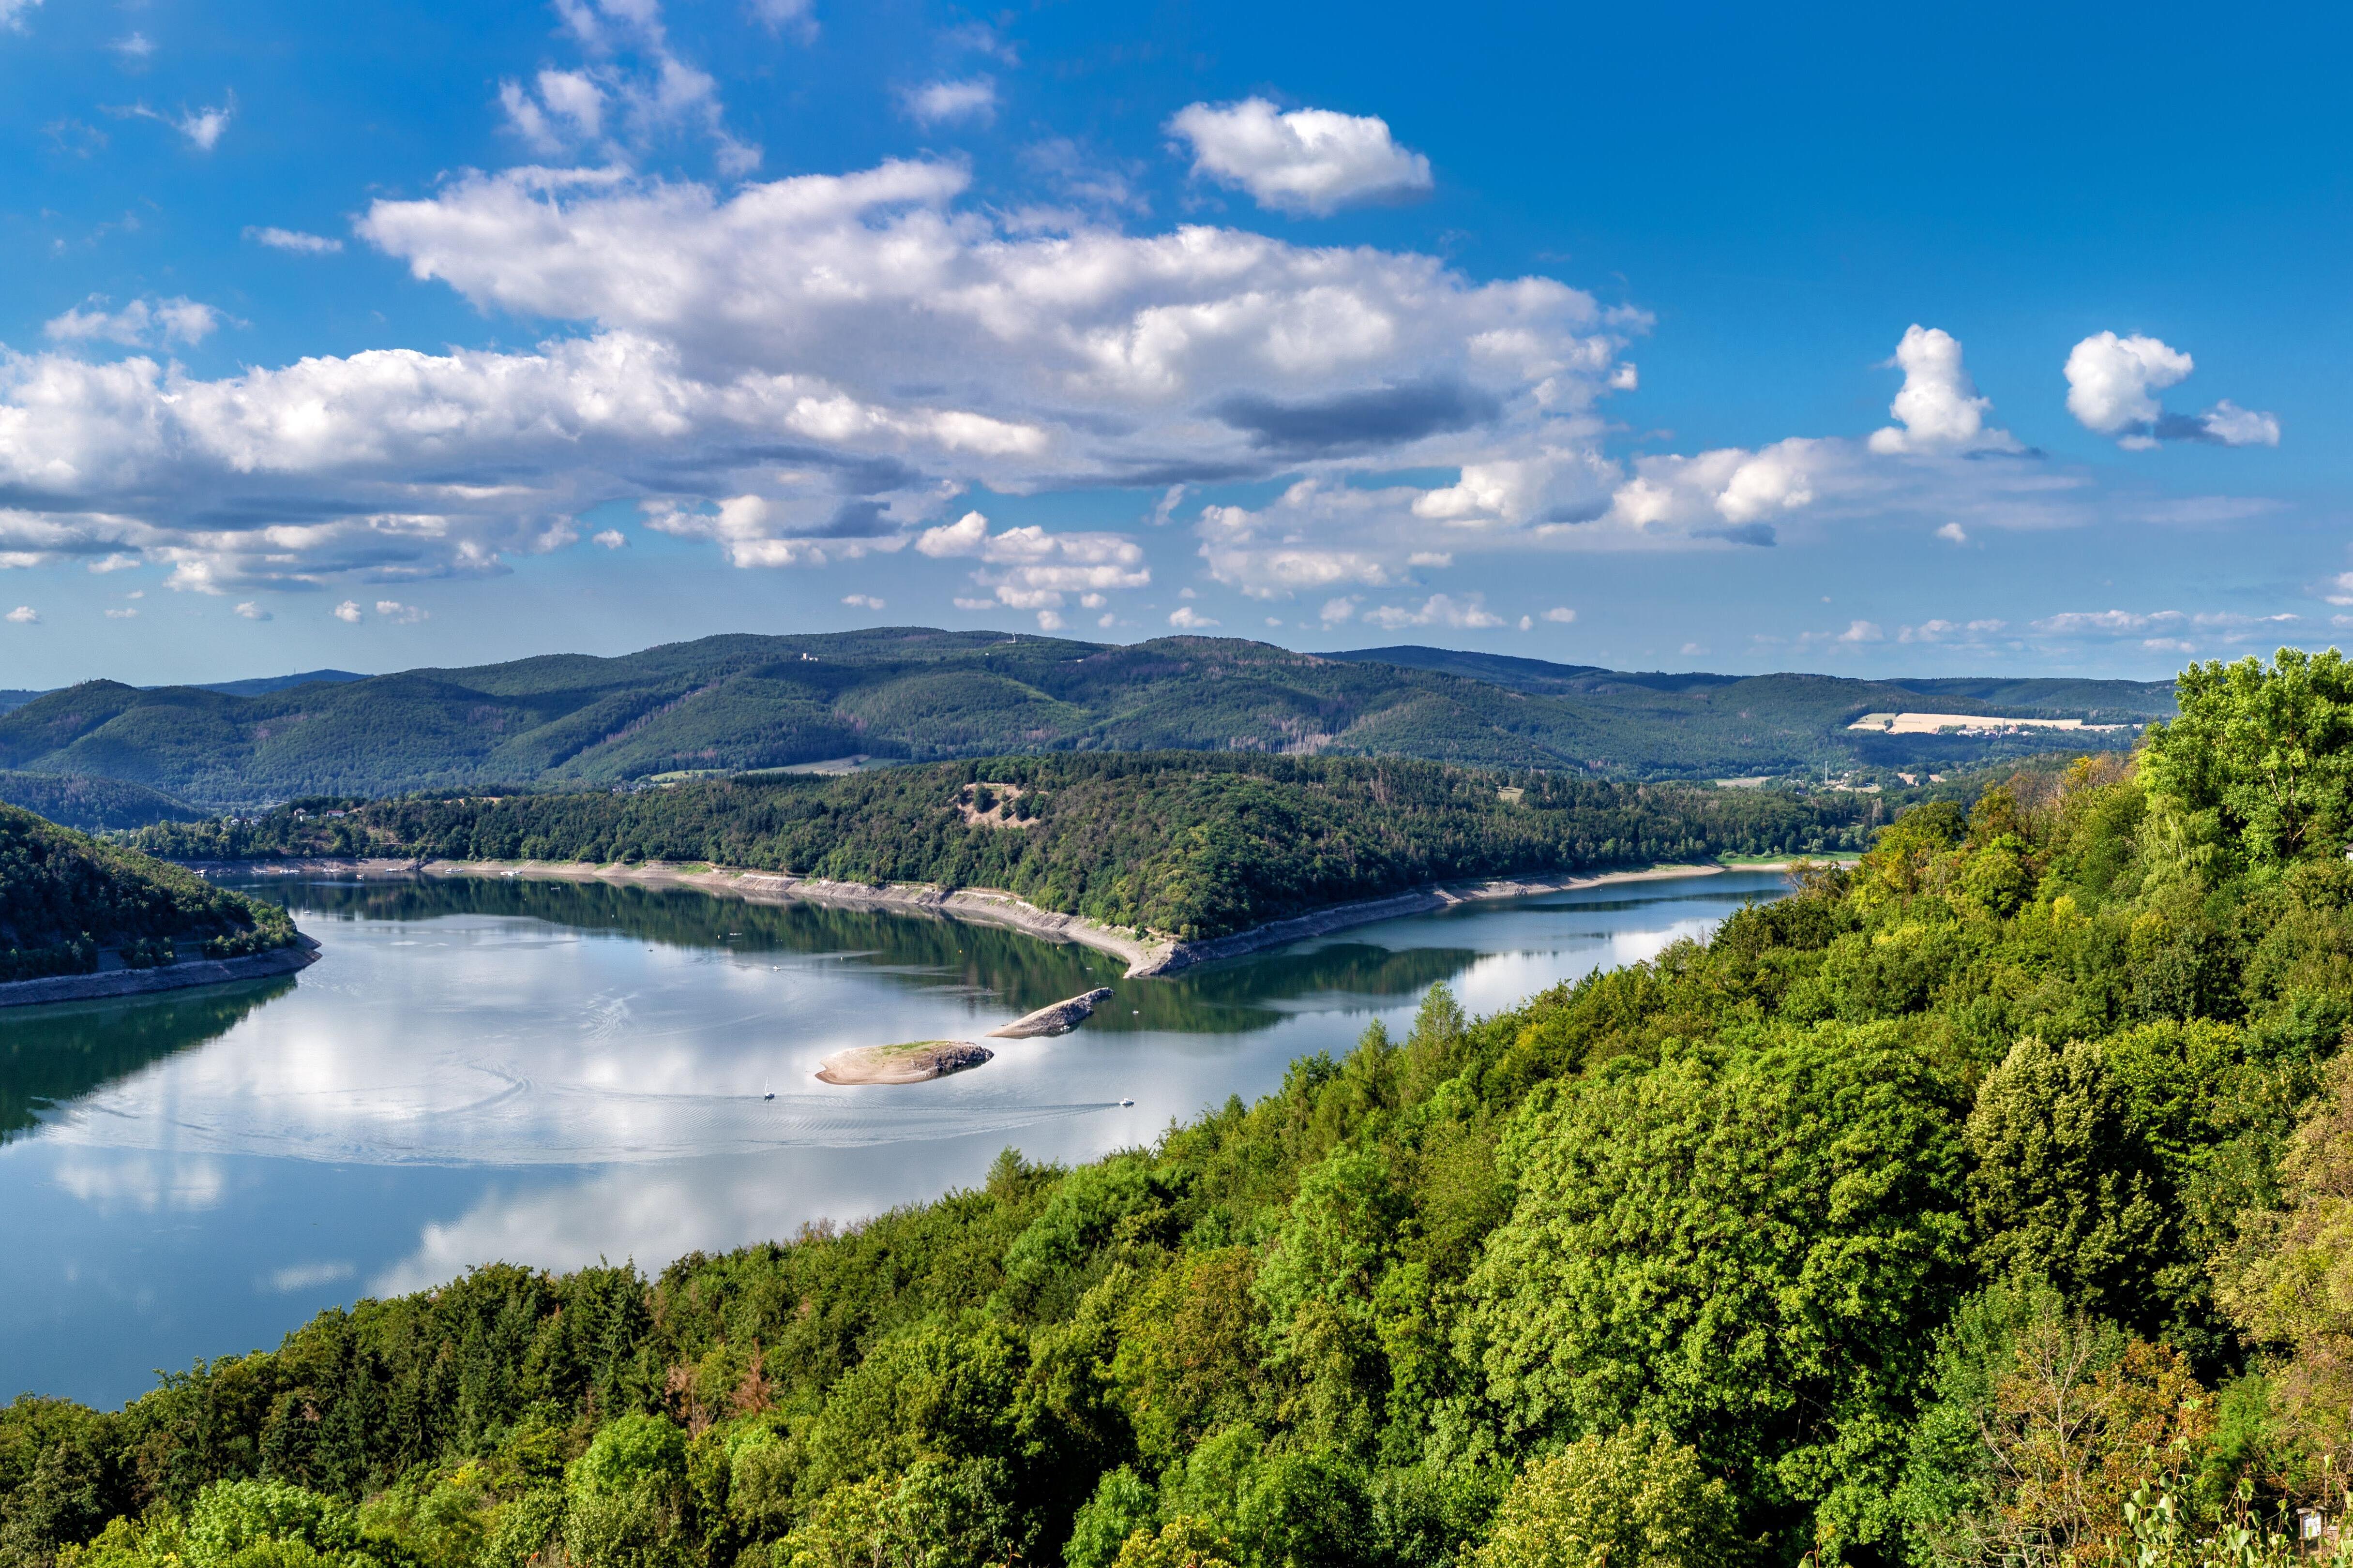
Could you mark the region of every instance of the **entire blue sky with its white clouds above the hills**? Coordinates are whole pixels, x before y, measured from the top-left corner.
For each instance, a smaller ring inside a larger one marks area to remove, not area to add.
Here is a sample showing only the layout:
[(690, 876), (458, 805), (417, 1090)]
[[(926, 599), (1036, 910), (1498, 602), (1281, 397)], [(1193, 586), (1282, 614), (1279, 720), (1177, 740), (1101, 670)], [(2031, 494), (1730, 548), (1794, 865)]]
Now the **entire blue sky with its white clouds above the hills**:
[(2341, 14), (0, 19), (0, 686), (873, 623), (2158, 677), (2353, 611)]

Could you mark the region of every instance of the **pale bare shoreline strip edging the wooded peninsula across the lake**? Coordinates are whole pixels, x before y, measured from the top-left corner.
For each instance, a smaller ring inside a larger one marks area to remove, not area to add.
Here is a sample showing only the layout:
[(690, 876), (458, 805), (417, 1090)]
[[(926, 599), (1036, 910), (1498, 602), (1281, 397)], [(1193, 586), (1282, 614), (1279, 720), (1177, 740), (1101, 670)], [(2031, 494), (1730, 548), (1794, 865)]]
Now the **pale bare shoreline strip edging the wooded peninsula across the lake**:
[(1348, 926), (1369, 926), (1381, 919), (1449, 910), (1461, 903), (1489, 898), (1529, 898), (1534, 893), (1569, 893), (1577, 889), (1607, 886), (1617, 882), (1661, 882), (1671, 877), (1720, 877), (1727, 870), (1772, 872), (1788, 870), (1795, 860), (1765, 865), (1652, 865), (1640, 872), (1591, 872), (1591, 875), (1539, 875), (1539, 877), (1492, 877), (1480, 882), (1445, 882), (1388, 893), (1384, 898), (1360, 898), (1334, 903), (1289, 919), (1266, 922), (1231, 936), (1200, 943), (1184, 943), (1167, 936), (1134, 933), (1106, 926), (1078, 914), (1056, 914), (998, 889), (958, 889), (953, 893), (936, 886), (889, 884), (866, 886), (864, 882), (828, 882), (824, 877), (791, 877), (786, 872), (753, 872), (734, 867), (687, 870), (647, 860), (642, 865), (588, 865), (581, 860), (191, 860), (205, 872), (259, 872), (259, 875), (339, 875), (339, 877), (546, 877), (558, 882), (609, 882), (624, 886), (692, 886), (706, 893), (744, 898), (746, 903), (821, 903), (845, 910), (878, 910), (894, 914), (939, 914), (984, 926), (1009, 926), (1049, 943), (1078, 943), (1108, 952), (1127, 961), (1127, 978), (1165, 976), (1212, 959), (1233, 959), (1268, 947), (1282, 947), (1311, 936), (1329, 936)]

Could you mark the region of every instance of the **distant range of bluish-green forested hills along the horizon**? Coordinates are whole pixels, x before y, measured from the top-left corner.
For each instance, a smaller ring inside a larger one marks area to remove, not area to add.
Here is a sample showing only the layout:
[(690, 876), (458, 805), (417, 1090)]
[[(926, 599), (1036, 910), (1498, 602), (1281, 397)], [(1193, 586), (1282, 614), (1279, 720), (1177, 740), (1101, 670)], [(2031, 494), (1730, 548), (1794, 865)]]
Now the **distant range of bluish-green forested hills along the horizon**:
[[(0, 769), (261, 804), (478, 783), (614, 783), (854, 755), (1198, 748), (1746, 778), (1849, 762), (1958, 766), (2038, 745), (1847, 731), (1866, 712), (1922, 705), (1922, 691), (1889, 682), (1647, 677), (1489, 656), (1440, 663), (1320, 658), (1217, 637), (1106, 646), (885, 628), (704, 637), (626, 658), (565, 654), (271, 691), (89, 682), (0, 715)], [(1934, 708), (2127, 724), (2169, 712), (2162, 684), (1984, 686), (1937, 691)], [(2129, 729), (2085, 736), (2092, 745), (2129, 738)]]

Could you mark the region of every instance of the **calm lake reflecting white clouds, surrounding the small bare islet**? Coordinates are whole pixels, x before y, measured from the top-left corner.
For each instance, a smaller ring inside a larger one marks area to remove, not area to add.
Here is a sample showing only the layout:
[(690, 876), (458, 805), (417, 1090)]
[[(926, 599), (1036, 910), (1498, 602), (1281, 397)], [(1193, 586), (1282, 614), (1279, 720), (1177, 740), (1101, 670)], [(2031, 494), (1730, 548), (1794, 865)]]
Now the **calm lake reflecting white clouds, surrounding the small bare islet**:
[[(325, 943), (301, 976), (0, 1016), (0, 1396), (120, 1403), (475, 1262), (652, 1272), (976, 1182), (1007, 1145), (1148, 1143), (1374, 1018), (1402, 1034), (1435, 980), (1487, 1013), (1784, 884), (1471, 905), (1158, 980), (988, 926), (694, 891), (261, 891)], [(1118, 994), (1078, 1032), (991, 1041), (974, 1072), (812, 1077), (842, 1046), (974, 1039), (1094, 985)]]

